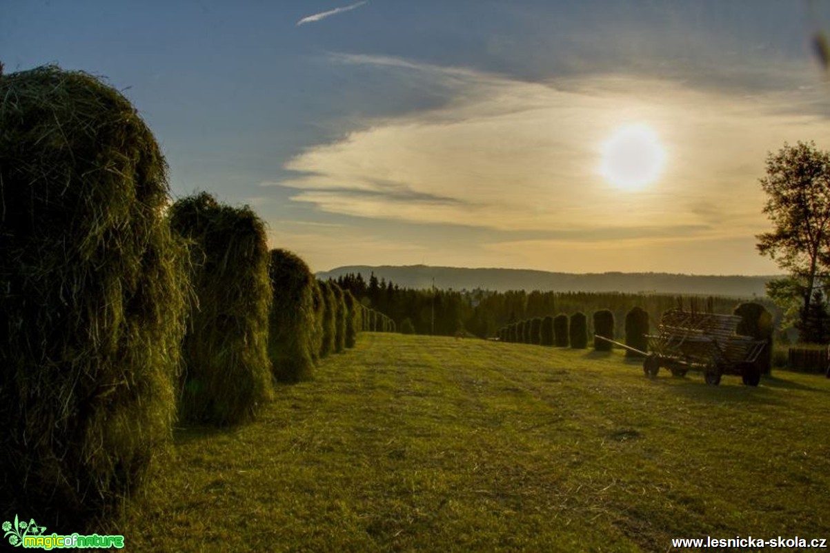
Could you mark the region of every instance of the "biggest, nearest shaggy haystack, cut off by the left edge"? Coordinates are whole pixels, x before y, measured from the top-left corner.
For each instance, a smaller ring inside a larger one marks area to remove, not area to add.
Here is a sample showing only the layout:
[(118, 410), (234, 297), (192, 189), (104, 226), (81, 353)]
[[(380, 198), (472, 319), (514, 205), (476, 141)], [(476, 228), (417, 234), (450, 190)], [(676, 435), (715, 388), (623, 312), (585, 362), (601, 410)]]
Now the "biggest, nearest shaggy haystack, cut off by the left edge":
[(0, 77), (0, 497), (77, 531), (164, 452), (188, 303), (167, 165), (124, 96)]

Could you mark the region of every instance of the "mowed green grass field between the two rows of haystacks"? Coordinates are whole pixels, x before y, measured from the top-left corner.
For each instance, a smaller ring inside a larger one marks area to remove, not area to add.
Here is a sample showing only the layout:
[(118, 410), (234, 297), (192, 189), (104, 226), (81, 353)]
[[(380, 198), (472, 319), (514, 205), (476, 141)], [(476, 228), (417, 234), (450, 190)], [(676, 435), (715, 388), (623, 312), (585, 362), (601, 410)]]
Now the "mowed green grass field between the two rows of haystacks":
[(128, 551), (669, 551), (830, 538), (830, 381), (364, 333), (253, 424), (179, 429)]

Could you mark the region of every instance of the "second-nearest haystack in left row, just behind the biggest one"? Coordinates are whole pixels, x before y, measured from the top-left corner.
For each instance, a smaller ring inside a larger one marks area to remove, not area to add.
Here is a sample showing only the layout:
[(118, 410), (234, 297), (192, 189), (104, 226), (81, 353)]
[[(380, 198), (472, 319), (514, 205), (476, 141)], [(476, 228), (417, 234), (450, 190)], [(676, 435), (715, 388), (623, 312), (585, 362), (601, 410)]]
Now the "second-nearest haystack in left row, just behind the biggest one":
[(207, 192), (174, 203), (170, 223), (190, 242), (198, 298), (182, 346), (179, 414), (246, 422), (272, 395), (265, 225), (247, 206), (220, 205)]

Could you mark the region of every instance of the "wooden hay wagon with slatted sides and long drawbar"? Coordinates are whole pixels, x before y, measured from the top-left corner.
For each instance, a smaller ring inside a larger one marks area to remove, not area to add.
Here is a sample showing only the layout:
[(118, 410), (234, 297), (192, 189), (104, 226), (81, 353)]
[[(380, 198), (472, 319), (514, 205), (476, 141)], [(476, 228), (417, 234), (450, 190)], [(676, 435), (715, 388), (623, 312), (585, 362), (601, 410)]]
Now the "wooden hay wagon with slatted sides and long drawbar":
[(642, 363), (646, 376), (657, 376), (663, 367), (673, 376), (703, 371), (706, 384), (713, 386), (720, 384), (723, 375), (741, 376), (744, 384), (758, 386), (761, 371), (755, 361), (766, 344), (737, 334), (740, 320), (737, 315), (670, 309), (663, 313), (657, 334), (646, 336), (650, 352), (613, 343), (646, 356)]

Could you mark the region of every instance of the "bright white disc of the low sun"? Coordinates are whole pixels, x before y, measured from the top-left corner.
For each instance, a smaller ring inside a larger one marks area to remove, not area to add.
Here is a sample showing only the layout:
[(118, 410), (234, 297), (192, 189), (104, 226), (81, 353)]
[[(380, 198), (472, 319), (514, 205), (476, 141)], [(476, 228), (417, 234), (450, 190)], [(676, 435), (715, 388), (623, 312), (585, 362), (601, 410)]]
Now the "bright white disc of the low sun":
[(616, 187), (639, 190), (660, 177), (665, 163), (666, 151), (657, 133), (646, 125), (629, 125), (603, 144), (599, 171)]

